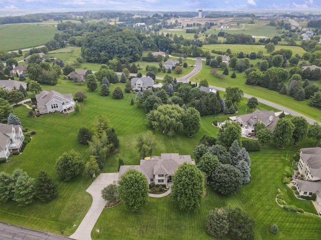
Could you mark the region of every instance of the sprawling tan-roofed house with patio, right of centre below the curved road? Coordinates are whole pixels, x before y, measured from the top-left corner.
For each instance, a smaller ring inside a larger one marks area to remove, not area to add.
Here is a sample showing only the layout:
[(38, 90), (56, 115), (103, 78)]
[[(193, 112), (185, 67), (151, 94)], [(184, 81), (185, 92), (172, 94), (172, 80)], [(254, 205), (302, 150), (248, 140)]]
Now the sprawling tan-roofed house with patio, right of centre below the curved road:
[(257, 122), (263, 122), (267, 129), (273, 130), (278, 120), (278, 117), (276, 117), (273, 110), (261, 111), (259, 109), (256, 109), (252, 113), (232, 116), (230, 118), (250, 130), (254, 130), (254, 126)]

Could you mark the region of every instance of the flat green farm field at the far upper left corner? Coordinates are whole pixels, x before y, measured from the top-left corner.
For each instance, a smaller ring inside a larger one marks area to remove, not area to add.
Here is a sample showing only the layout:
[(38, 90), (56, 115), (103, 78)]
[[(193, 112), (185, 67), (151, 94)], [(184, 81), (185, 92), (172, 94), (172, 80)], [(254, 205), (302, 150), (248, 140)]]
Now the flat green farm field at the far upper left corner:
[(18, 50), (38, 46), (54, 38), (56, 26), (41, 24), (0, 25), (0, 49)]

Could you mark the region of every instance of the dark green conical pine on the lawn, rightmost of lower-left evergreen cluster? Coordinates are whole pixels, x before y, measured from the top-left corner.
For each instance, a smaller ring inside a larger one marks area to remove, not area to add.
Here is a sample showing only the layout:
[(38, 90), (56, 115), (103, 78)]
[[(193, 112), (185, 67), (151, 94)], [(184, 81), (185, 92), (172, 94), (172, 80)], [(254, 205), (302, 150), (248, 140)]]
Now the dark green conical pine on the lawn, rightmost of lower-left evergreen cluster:
[(58, 195), (58, 185), (45, 171), (40, 171), (36, 181), (36, 197), (42, 201), (50, 201)]

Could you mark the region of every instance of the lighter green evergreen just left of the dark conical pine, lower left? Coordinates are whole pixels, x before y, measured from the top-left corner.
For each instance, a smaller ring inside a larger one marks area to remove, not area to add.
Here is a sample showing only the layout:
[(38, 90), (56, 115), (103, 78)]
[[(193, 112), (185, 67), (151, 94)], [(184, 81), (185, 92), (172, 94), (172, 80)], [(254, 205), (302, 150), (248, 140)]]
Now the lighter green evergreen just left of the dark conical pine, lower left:
[(13, 200), (18, 202), (18, 206), (27, 206), (34, 202), (35, 179), (28, 176), (26, 172), (18, 176), (14, 191)]

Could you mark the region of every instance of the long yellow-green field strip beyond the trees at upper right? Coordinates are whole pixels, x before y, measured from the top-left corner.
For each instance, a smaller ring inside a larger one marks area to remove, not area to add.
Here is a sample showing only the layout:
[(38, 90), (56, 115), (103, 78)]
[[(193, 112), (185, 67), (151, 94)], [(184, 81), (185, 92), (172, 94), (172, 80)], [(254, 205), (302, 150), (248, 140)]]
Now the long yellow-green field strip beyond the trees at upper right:
[[(218, 50), (218, 51), (226, 51), (228, 48), (234, 53), (238, 53), (240, 51), (243, 51), (244, 53), (250, 54), (251, 52), (258, 52), (263, 51), (263, 55), (269, 55), (267, 53), (266, 48), (264, 48), (265, 45), (244, 45), (244, 44), (210, 44), (210, 45), (203, 45), (202, 48), (204, 50)], [(279, 50), (281, 48), (291, 49), (293, 52), (293, 55), (296, 53), (299, 55), (302, 55), (304, 52), (306, 52), (302, 47), (300, 46), (284, 46), (284, 45), (276, 45), (275, 50)]]

